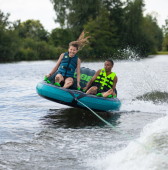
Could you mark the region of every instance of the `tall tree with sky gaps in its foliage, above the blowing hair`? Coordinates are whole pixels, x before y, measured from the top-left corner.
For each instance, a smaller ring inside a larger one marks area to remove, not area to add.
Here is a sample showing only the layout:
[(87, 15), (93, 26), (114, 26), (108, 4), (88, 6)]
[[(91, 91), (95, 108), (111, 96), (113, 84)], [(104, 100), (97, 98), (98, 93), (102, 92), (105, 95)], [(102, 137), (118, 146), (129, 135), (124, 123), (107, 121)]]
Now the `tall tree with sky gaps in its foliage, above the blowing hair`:
[(83, 31), (83, 26), (89, 21), (89, 17), (96, 18), (101, 6), (100, 0), (50, 0), (54, 5), (58, 22), (63, 28), (71, 28), (75, 39)]

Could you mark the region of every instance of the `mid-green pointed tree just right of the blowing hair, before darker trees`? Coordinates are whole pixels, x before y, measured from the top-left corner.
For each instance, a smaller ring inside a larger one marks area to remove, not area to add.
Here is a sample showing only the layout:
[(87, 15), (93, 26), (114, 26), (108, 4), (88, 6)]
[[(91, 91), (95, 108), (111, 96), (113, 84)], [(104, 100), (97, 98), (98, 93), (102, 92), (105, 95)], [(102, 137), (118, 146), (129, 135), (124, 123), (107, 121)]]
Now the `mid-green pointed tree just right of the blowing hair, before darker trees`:
[(98, 57), (113, 54), (118, 45), (117, 27), (109, 17), (109, 12), (102, 8), (99, 16), (96, 19), (90, 18), (89, 22), (84, 26), (92, 37), (90, 39), (92, 52)]

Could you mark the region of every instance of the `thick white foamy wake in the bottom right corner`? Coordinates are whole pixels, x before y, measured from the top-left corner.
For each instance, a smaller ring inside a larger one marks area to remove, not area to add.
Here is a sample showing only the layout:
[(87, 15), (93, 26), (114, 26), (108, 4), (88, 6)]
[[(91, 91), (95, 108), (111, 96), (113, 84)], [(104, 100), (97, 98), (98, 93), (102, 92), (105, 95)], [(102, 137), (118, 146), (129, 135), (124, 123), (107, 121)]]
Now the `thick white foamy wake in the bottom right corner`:
[(168, 115), (143, 128), (136, 141), (148, 146), (147, 149), (131, 141), (123, 150), (97, 160), (88, 160), (88, 164), (97, 170), (166, 170), (168, 167), (167, 122)]

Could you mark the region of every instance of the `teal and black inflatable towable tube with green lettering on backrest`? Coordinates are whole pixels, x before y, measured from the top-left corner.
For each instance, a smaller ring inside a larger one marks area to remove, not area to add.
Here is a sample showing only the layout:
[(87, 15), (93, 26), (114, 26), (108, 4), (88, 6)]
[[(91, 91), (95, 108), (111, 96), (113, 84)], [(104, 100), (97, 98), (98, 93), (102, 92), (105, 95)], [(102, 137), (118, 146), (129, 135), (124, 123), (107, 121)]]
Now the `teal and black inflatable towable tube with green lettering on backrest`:
[[(98, 97), (96, 95), (90, 95), (82, 91), (76, 90), (77, 89), (76, 71), (74, 73), (74, 84), (69, 89), (65, 89), (54, 85), (56, 74), (57, 72), (55, 72), (51, 77), (48, 78), (51, 84), (47, 83), (47, 81), (42, 81), (37, 84), (36, 91), (41, 97), (68, 106), (86, 109), (81, 103), (77, 101), (79, 100), (80, 102), (84, 103), (85, 105), (87, 105), (88, 107), (95, 111), (111, 111), (120, 109), (121, 102), (118, 98)], [(81, 88), (84, 88), (95, 74), (95, 71), (81, 67), (80, 74), (81, 74), (80, 86)]]

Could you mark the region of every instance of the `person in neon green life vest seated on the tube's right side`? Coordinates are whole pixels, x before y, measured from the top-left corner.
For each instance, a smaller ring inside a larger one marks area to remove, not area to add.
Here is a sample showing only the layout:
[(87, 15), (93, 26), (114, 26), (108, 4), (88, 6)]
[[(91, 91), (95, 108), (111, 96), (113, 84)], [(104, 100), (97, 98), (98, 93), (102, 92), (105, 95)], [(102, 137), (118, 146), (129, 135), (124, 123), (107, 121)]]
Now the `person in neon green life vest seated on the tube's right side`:
[[(95, 73), (83, 90), (85, 90), (87, 94), (97, 94), (97, 96), (101, 97), (116, 97), (115, 88), (118, 78), (116, 73), (112, 72), (113, 65), (112, 60), (106, 60), (104, 68)], [(91, 85), (92, 87), (88, 89)]]

